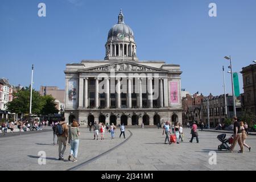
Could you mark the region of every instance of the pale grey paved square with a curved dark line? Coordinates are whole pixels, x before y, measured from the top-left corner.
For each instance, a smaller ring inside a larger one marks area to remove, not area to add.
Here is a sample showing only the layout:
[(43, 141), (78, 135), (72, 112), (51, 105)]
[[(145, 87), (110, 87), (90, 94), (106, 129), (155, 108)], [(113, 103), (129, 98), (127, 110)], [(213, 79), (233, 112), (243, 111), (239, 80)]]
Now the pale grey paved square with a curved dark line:
[[(218, 151), (220, 133), (199, 131), (199, 143), (189, 142), (189, 129), (184, 129), (184, 142), (164, 144), (162, 129), (126, 129), (126, 139), (115, 139), (105, 134), (105, 140), (93, 140), (93, 133), (81, 128), (78, 162), (67, 160), (70, 146), (65, 151), (65, 161), (57, 160), (58, 146), (53, 146), (52, 131), (0, 137), (2, 158), (0, 170), (255, 170), (256, 136), (249, 135), (243, 154)], [(231, 134), (227, 134), (229, 137)], [(123, 143), (122, 143), (123, 142)], [(119, 145), (119, 146), (118, 146)], [(115, 147), (115, 148), (113, 148)], [(113, 149), (113, 150), (112, 150)], [(238, 144), (235, 148), (238, 151)], [(110, 151), (109, 151), (110, 150)], [(38, 164), (38, 152), (46, 152), (46, 165)], [(109, 151), (109, 152), (106, 152)], [(217, 153), (217, 164), (209, 164), (209, 151)], [(104, 155), (104, 152), (106, 152)], [(100, 155), (100, 156), (98, 156)], [(98, 156), (98, 157), (97, 157)], [(95, 158), (96, 157), (96, 158)], [(94, 158), (94, 159), (93, 159)]]

